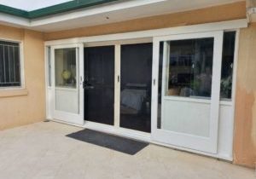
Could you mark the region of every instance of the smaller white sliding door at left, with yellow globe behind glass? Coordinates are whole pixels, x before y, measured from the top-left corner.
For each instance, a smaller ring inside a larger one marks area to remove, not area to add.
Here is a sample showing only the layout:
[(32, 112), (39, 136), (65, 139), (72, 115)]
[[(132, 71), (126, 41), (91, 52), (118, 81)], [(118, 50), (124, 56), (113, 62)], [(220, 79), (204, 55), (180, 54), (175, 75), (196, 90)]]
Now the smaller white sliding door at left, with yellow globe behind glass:
[(54, 46), (51, 50), (53, 118), (84, 124), (83, 44)]

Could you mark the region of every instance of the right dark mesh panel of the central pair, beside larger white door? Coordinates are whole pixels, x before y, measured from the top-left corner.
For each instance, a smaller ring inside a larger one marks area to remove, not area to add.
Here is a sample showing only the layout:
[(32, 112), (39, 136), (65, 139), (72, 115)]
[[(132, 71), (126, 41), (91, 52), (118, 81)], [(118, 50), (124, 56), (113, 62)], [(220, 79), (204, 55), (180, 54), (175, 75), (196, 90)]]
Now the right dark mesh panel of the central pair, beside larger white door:
[(152, 43), (121, 46), (120, 126), (150, 132)]

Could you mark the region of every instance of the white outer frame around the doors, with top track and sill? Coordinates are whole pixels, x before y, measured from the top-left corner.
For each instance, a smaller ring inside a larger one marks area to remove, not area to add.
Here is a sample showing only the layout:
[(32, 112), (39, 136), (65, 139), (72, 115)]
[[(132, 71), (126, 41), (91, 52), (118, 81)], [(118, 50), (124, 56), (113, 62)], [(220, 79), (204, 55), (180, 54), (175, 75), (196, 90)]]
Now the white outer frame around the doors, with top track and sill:
[[(240, 28), (247, 27), (247, 20), (246, 19), (240, 19), (240, 20), (226, 20), (226, 21), (220, 21), (220, 22), (211, 22), (211, 23), (205, 23), (205, 24), (198, 24), (198, 25), (191, 25), (191, 26), (175, 26), (175, 27), (168, 27), (168, 28), (160, 28), (160, 29), (154, 29), (154, 30), (146, 30), (146, 31), (139, 31), (139, 32), (122, 32), (122, 33), (116, 33), (116, 34), (106, 34), (106, 35), (99, 35), (99, 36), (91, 36), (91, 37), (81, 37), (81, 38), (66, 38), (66, 39), (59, 39), (59, 40), (51, 40), (51, 41), (45, 41), (44, 46), (55, 46), (60, 44), (70, 44), (70, 43), (98, 43), (98, 42), (106, 42), (106, 41), (125, 41), (125, 40), (131, 40), (131, 39), (138, 39), (138, 38), (154, 38), (154, 37), (161, 37), (161, 36), (168, 36), (168, 35), (176, 35), (176, 34), (186, 34), (186, 33), (195, 33), (195, 32), (212, 32), (212, 31), (236, 31), (236, 46), (235, 46), (235, 59), (234, 59), (234, 73), (233, 73), (233, 91), (232, 91), (232, 101), (219, 101), (220, 105), (231, 105), (232, 106), (232, 124), (228, 122), (229, 126), (227, 127), (227, 124), (220, 124), (222, 126), (222, 132), (219, 133), (221, 136), (227, 136), (226, 129), (232, 128), (231, 133), (228, 134), (229, 143), (230, 140), (233, 141), (233, 126), (234, 126), (234, 112), (235, 112), (235, 98), (236, 96), (236, 64), (238, 59), (238, 48), (239, 48), (239, 32)], [(158, 52), (156, 52), (158, 53)], [(46, 60), (46, 58), (45, 58)], [(47, 61), (45, 61), (47, 62)], [(155, 65), (153, 63), (153, 65)], [(47, 73), (46, 73), (47, 74)], [(155, 78), (155, 72), (153, 72), (153, 78), (152, 78), (152, 85), (158, 83), (158, 78)], [(48, 89), (46, 85), (46, 89)], [(154, 92), (154, 91), (153, 91)], [(152, 96), (152, 100), (155, 100), (156, 96)], [(49, 102), (49, 101), (48, 101)], [(46, 102), (47, 103), (47, 102)], [(152, 118), (153, 118), (153, 114)], [(50, 120), (54, 120), (53, 118), (48, 117)], [(63, 122), (63, 121), (62, 121)], [(65, 122), (63, 122), (65, 123)], [(70, 123), (67, 123), (70, 124)], [(73, 124), (75, 125), (75, 124)], [(232, 126), (230, 126), (232, 125)], [(160, 143), (156, 141), (152, 141), (151, 135), (144, 134), (143, 132), (134, 131), (134, 130), (124, 130), (124, 129), (114, 129), (112, 126), (106, 126), (103, 124), (84, 124), (84, 125), (77, 125), (79, 127), (88, 128), (91, 130), (101, 130), (103, 132), (108, 132), (114, 135), (120, 135), (120, 136), (127, 136), (131, 138), (135, 138), (137, 140), (142, 141), (149, 141), (155, 144), (159, 144), (161, 146), (166, 147), (174, 147), (172, 145), (167, 145), (165, 143)], [(226, 137), (227, 138), (227, 137)], [(228, 145), (228, 147), (227, 147)], [(186, 150), (192, 153), (200, 153), (203, 155), (211, 156), (213, 158), (218, 159), (226, 159), (232, 161), (233, 155), (232, 155), (232, 144), (227, 144), (226, 141), (221, 141), (221, 146), (218, 149), (217, 154), (211, 154), (211, 153), (204, 153), (201, 151), (196, 151), (193, 149), (188, 149), (184, 147), (175, 147), (177, 149)]]

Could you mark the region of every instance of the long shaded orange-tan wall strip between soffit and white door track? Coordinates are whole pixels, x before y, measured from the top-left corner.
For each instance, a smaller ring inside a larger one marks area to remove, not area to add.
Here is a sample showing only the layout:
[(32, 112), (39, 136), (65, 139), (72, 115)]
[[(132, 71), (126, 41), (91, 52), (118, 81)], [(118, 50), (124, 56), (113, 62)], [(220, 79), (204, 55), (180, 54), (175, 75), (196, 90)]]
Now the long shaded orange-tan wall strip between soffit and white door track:
[(190, 10), (175, 14), (163, 14), (136, 20), (126, 20), (101, 26), (82, 27), (73, 30), (47, 32), (45, 40), (88, 37), (120, 32), (135, 32), (172, 26), (188, 26), (223, 20), (246, 18), (246, 3), (230, 3), (206, 9)]

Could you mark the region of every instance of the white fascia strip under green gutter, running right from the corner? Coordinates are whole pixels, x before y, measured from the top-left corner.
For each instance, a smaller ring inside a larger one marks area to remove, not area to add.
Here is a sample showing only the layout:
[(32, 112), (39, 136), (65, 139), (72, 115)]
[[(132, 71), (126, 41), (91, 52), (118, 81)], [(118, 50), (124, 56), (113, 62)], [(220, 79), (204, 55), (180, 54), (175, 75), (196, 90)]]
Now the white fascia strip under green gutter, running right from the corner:
[(113, 12), (122, 9), (131, 9), (139, 6), (144, 6), (152, 3), (166, 2), (167, 0), (136, 0), (136, 1), (127, 1), (123, 3), (113, 3), (108, 5), (102, 5), (94, 9), (86, 10), (77, 10), (67, 14), (53, 15), (46, 18), (41, 18), (38, 20), (32, 20), (31, 26), (44, 26), (46, 24), (51, 24), (55, 22), (65, 21), (65, 20), (74, 20), (81, 17), (86, 17), (95, 14), (104, 14), (108, 12)]

